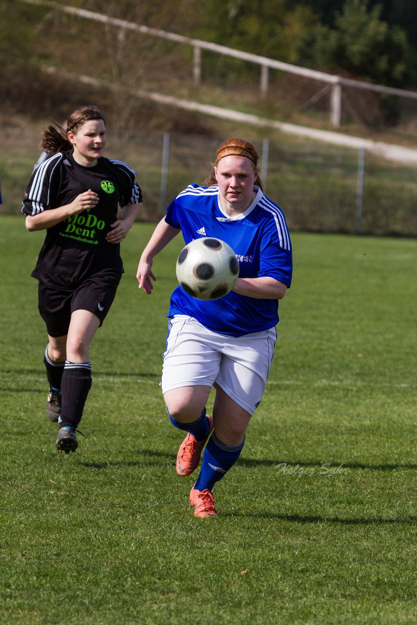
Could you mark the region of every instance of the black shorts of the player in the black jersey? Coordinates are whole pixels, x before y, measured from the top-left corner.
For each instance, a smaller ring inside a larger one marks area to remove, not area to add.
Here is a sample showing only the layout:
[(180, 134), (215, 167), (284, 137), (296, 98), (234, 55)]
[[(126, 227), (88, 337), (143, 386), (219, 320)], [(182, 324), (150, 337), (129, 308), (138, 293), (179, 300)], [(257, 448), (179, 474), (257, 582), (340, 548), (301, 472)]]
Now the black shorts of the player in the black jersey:
[(93, 312), (103, 324), (113, 303), (121, 274), (98, 274), (85, 280), (75, 291), (38, 283), (38, 309), (46, 323), (49, 336), (68, 334), (71, 314), (76, 310)]

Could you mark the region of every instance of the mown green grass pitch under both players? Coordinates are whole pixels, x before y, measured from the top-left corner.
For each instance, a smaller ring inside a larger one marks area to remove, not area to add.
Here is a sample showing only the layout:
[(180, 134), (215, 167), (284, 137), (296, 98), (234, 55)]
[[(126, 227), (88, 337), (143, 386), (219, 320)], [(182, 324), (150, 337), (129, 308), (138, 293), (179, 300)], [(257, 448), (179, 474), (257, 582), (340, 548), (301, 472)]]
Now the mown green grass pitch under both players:
[(415, 240), (293, 235), (267, 391), (199, 520), (158, 389), (179, 237), (151, 297), (134, 276), (152, 226), (124, 241), (65, 456), (29, 276), (43, 234), (0, 222), (2, 624), (416, 622)]

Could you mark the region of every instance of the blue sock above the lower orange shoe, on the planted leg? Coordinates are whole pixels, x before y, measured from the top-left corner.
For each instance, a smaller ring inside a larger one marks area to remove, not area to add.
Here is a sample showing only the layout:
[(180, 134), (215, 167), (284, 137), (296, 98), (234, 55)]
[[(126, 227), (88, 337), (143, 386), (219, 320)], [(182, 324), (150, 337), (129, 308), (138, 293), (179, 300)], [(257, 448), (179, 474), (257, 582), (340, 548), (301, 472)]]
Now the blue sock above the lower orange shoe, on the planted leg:
[(203, 464), (194, 488), (197, 491), (204, 491), (206, 488), (212, 491), (214, 484), (233, 467), (241, 454), (243, 446), (244, 439), (240, 445), (229, 447), (219, 441), (213, 432), (206, 444), (206, 449), (204, 449)]

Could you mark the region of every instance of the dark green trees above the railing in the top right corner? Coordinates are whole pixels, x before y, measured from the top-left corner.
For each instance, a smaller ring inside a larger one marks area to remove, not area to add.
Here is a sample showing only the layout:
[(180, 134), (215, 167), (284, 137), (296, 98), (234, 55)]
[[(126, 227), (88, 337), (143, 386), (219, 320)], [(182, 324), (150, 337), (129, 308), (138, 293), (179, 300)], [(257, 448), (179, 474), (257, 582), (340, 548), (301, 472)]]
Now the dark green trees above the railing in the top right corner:
[(204, 2), (192, 36), (397, 88), (417, 84), (417, 12), (406, 0)]

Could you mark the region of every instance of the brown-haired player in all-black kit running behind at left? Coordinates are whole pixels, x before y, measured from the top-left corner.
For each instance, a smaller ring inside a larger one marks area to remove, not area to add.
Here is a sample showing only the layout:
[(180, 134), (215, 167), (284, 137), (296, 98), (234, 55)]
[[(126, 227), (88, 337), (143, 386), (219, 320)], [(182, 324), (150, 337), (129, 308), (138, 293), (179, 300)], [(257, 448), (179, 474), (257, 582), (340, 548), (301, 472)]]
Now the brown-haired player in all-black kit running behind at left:
[(22, 212), (29, 231), (46, 230), (32, 272), (49, 338), (46, 412), (59, 423), (58, 451), (69, 453), (78, 447), (76, 427), (91, 387), (90, 342), (116, 294), (119, 243), (142, 196), (133, 169), (102, 156), (106, 124), (95, 106), (76, 109), (65, 130), (49, 126), (42, 147), (52, 156), (33, 172)]

